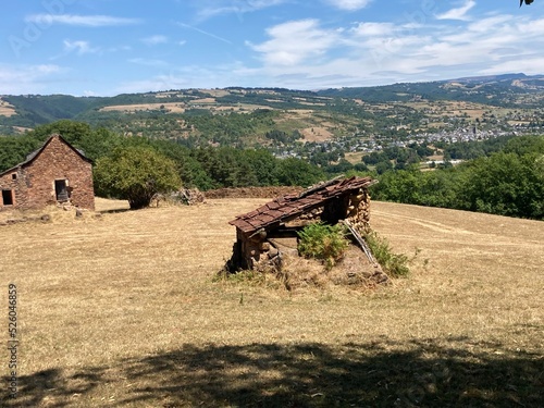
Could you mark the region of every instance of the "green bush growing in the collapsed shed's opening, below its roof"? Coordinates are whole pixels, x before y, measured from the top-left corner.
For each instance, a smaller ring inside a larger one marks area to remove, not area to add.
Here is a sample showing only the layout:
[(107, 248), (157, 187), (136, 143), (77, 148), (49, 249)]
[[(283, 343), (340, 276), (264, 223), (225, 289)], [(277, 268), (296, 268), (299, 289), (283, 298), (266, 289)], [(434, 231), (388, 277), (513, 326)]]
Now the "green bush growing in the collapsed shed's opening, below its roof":
[(330, 270), (342, 259), (349, 245), (345, 234), (344, 226), (339, 224), (310, 224), (298, 233), (298, 251), (306, 258), (322, 260)]

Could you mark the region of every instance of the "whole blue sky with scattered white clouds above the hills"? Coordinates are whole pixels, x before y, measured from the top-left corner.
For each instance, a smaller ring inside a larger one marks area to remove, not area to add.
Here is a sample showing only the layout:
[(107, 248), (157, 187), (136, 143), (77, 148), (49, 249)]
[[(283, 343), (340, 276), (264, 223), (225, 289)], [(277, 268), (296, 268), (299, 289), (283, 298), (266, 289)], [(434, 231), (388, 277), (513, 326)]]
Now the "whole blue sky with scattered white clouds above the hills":
[(11, 0), (0, 95), (544, 73), (544, 0)]

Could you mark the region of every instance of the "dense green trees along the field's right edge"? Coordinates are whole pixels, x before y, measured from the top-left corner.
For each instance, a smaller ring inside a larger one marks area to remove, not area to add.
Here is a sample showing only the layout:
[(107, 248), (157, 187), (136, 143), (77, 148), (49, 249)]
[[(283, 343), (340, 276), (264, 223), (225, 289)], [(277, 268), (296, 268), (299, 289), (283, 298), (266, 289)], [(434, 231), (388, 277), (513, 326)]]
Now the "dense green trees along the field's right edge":
[(544, 220), (544, 136), (509, 139), (498, 151), (455, 168), (382, 174), (373, 198)]

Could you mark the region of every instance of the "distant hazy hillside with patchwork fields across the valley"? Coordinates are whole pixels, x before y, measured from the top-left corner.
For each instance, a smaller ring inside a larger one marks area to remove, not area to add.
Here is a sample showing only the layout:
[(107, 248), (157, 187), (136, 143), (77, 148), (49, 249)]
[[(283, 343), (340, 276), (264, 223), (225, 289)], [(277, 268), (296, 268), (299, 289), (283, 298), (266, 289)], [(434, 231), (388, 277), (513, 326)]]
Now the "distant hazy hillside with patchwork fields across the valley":
[(473, 121), (481, 121), (479, 128), (498, 124), (506, 132), (518, 125), (541, 126), (536, 110), (543, 103), (544, 75), (524, 74), (317, 91), (230, 87), (90, 98), (5, 95), (0, 97), (0, 135), (69, 119), (187, 146), (403, 138), (467, 127)]

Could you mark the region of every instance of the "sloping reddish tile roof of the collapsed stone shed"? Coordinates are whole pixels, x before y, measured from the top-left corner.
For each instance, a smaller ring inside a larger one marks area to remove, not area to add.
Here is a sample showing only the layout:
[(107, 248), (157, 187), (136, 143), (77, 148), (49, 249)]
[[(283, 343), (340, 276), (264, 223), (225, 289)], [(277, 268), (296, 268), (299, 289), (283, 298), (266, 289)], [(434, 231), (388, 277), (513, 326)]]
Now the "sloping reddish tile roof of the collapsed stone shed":
[(246, 234), (251, 234), (260, 228), (267, 230), (293, 220), (305, 212), (322, 207), (329, 200), (359, 188), (367, 188), (374, 183), (376, 181), (371, 177), (335, 178), (311, 187), (299, 195), (289, 194), (274, 198), (257, 210), (238, 215), (228, 223)]

